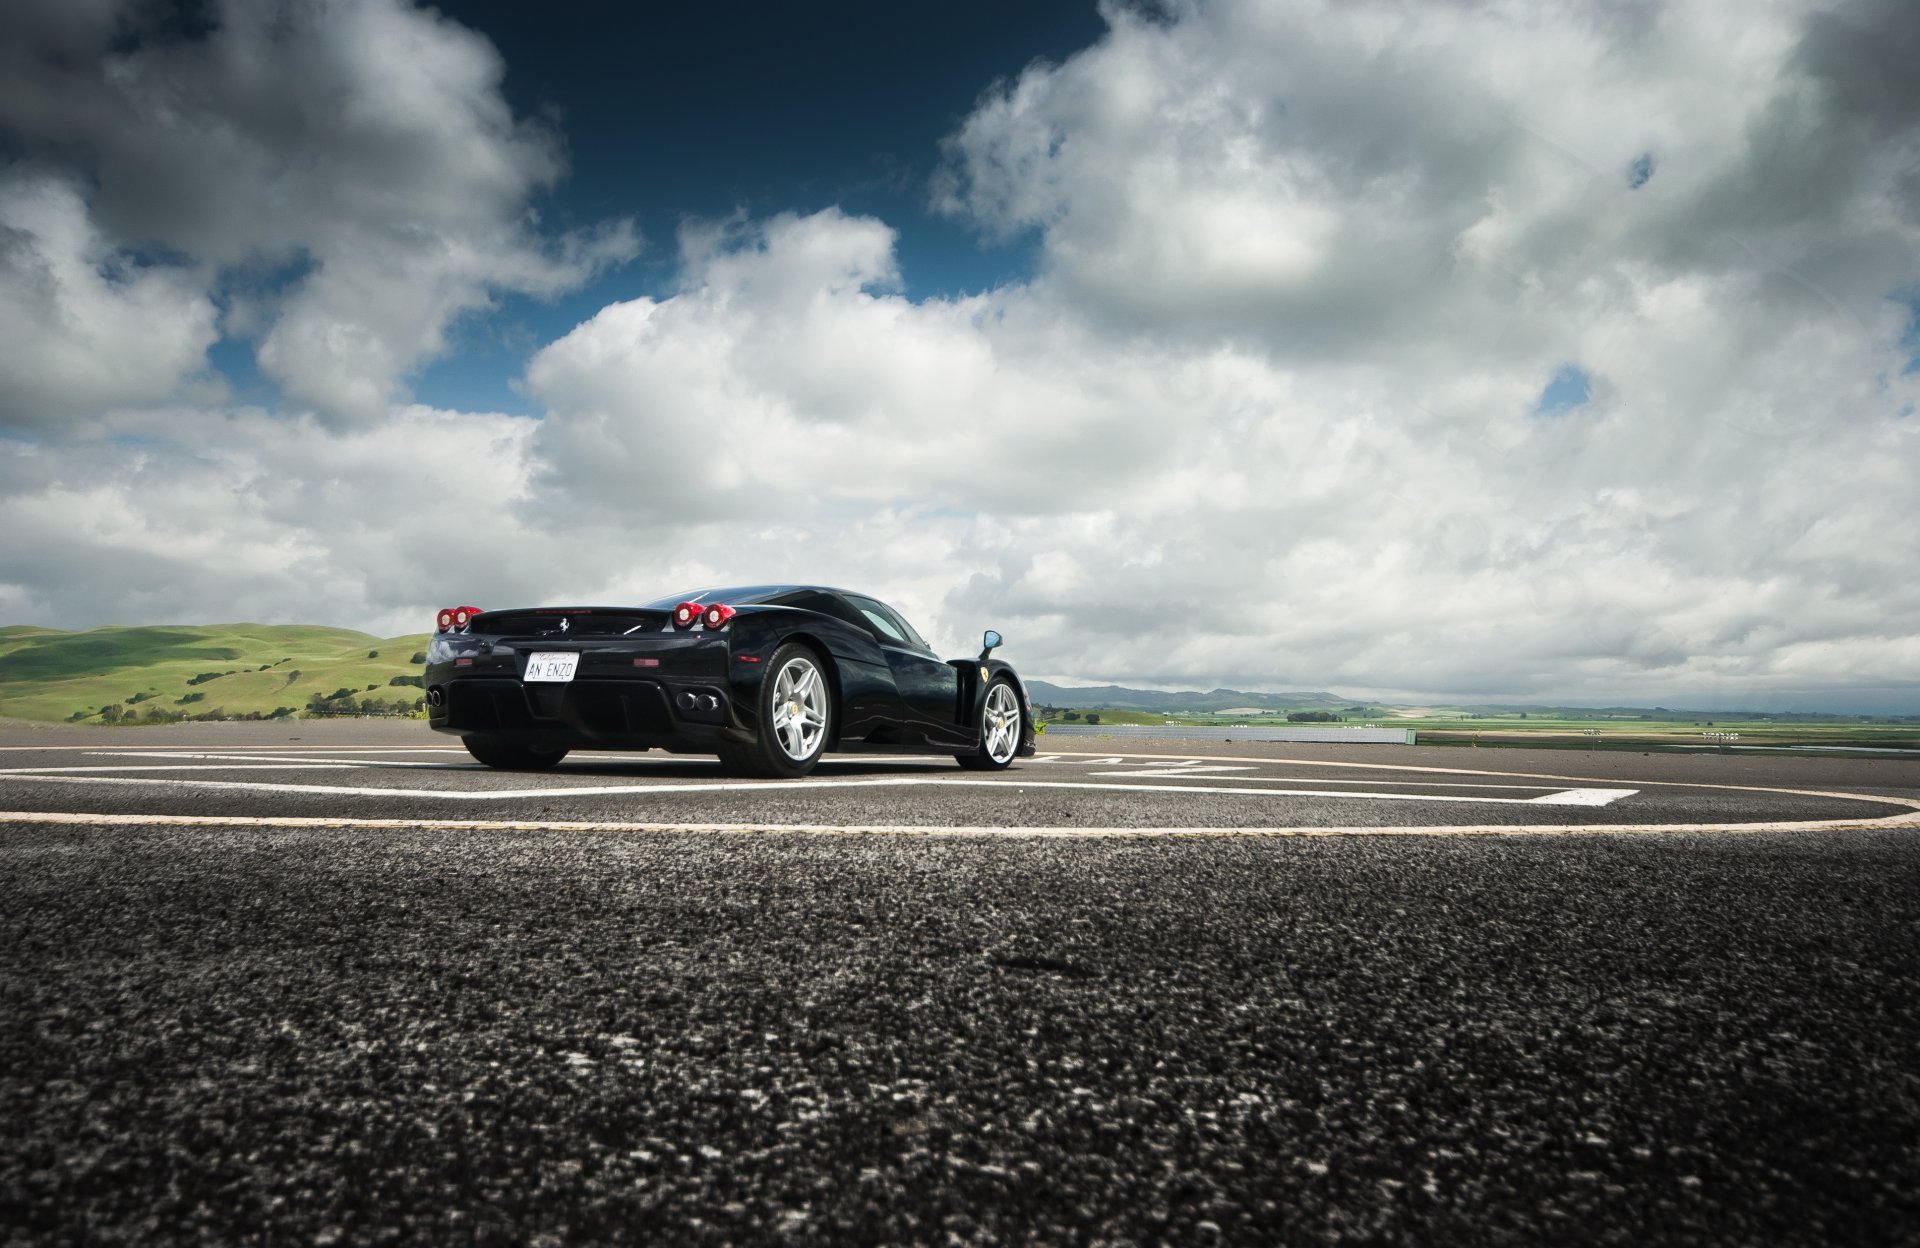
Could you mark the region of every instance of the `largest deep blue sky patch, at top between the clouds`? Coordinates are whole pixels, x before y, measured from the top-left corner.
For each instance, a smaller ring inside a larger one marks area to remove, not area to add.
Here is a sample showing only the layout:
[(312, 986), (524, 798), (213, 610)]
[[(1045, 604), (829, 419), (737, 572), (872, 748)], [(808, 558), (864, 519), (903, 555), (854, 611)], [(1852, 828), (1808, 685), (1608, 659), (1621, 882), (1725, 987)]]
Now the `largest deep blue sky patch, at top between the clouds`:
[(436, 8), (511, 50), (503, 86), (515, 115), (545, 119), (564, 142), (568, 173), (538, 196), (543, 232), (628, 217), (645, 240), (639, 257), (559, 300), (497, 296), (451, 326), (447, 351), (411, 378), (415, 399), (432, 407), (536, 417), (540, 405), (515, 390), (526, 363), (609, 303), (676, 294), (685, 219), (824, 207), (877, 217), (897, 230), (899, 294), (910, 300), (1029, 278), (1037, 234), (981, 242), (931, 209), (941, 140), (987, 84), (1106, 31), (1091, 2), (849, 0), (837, 21), (770, 6), (753, 15), (760, 29), (747, 42), (724, 6), (593, 6), (578, 21), (522, 0)]

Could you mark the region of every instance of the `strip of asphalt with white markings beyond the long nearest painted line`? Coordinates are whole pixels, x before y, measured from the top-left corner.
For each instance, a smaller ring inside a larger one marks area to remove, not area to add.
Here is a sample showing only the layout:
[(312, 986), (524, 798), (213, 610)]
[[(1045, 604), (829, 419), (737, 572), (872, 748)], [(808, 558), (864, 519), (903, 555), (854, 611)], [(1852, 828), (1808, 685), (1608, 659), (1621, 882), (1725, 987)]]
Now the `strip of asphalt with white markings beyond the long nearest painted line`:
[(493, 772), (413, 722), (0, 730), (0, 810), (749, 829), (1580, 829), (1920, 818), (1920, 762), (1071, 737), (1002, 774), (839, 755), (806, 780), (576, 753)]

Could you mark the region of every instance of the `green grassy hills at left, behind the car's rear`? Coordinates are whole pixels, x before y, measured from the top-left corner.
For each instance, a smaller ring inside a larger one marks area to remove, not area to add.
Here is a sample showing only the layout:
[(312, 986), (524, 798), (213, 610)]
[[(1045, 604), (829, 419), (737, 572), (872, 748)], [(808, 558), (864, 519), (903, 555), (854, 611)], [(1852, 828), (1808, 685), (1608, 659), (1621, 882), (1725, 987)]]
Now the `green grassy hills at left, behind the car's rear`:
[[(428, 634), (372, 637), (307, 624), (0, 628), (0, 716), (111, 722), (300, 714), (315, 695), (413, 707)], [(332, 708), (348, 708), (334, 699)], [(102, 716), (102, 708), (113, 707)]]

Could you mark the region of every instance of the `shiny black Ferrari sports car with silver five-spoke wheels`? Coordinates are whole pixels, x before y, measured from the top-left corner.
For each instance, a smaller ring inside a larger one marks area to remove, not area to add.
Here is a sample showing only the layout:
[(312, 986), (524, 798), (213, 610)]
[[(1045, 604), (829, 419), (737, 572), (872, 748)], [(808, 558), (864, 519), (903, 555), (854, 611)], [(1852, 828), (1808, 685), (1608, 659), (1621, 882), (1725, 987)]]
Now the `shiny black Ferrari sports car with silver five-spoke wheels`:
[(741, 586), (645, 607), (449, 607), (426, 649), (426, 718), (497, 768), (572, 749), (720, 755), (804, 776), (826, 751), (950, 753), (998, 770), (1033, 755), (1033, 705), (993, 659), (939, 659), (862, 593)]

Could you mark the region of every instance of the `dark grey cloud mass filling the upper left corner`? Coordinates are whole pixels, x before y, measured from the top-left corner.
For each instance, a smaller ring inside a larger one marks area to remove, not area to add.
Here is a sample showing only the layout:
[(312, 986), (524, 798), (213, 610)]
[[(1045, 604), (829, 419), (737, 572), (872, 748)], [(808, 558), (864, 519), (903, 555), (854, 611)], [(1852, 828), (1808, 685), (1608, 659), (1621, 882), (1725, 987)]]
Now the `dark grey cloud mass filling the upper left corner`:
[[(561, 177), (564, 150), (511, 113), (505, 63), (472, 31), (401, 0), (209, 12), (182, 38), (132, 2), (10, 6), (0, 132), (90, 188), (92, 265), (154, 250), (186, 257), (167, 280), (230, 296), (227, 328), (257, 338), (261, 371), (296, 407), (378, 420), (459, 315), (497, 292), (578, 286), (634, 253), (626, 223), (540, 232), (530, 198)], [(73, 324), (71, 351), (117, 328)], [(207, 346), (204, 315), (196, 328)], [(29, 346), (0, 351), (58, 390)]]

